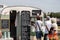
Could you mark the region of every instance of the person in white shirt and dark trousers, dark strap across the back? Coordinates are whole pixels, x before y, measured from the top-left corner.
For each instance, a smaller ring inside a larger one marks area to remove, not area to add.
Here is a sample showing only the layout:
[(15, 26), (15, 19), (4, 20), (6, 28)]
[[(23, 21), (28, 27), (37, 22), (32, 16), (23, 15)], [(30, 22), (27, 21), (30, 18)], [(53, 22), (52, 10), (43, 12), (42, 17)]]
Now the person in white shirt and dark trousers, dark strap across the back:
[(50, 17), (47, 16), (46, 17), (46, 21), (45, 21), (45, 35), (44, 35), (44, 40), (48, 40), (47, 35), (48, 35), (49, 31), (50, 31), (51, 25), (52, 25), (52, 23), (51, 23)]

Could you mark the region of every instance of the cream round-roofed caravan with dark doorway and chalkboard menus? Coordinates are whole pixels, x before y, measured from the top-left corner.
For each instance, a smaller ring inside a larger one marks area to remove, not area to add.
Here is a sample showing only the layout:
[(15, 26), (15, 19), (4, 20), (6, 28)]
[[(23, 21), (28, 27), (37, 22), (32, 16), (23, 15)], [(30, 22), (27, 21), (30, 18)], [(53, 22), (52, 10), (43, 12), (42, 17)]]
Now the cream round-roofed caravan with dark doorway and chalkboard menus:
[(30, 22), (36, 21), (37, 13), (43, 15), (40, 8), (31, 6), (8, 6), (3, 8), (0, 18), (0, 28), (3, 34), (10, 32), (10, 36), (14, 40), (30, 40)]

